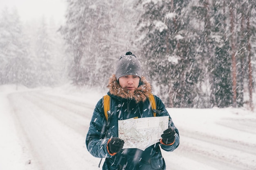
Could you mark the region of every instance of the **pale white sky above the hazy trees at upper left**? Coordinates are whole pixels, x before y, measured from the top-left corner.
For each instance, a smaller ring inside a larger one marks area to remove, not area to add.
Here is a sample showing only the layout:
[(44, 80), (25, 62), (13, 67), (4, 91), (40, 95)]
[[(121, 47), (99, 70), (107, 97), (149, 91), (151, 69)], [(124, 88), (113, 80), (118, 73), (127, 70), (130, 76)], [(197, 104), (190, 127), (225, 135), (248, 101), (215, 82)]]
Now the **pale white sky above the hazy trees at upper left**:
[(37, 19), (42, 16), (53, 17), (54, 20), (64, 20), (66, 0), (0, 0), (0, 10), (16, 7), (22, 21)]

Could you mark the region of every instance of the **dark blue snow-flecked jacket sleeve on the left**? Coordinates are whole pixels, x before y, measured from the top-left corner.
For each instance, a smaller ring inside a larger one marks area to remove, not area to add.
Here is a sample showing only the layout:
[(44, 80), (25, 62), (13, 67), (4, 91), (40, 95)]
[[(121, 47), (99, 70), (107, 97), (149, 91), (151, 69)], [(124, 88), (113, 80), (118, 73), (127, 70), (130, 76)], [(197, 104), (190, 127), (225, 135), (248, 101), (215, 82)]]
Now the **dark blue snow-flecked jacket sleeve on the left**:
[(107, 149), (109, 139), (105, 138), (107, 120), (102, 105), (101, 99), (94, 108), (85, 140), (88, 151), (92, 156), (97, 158), (111, 157)]

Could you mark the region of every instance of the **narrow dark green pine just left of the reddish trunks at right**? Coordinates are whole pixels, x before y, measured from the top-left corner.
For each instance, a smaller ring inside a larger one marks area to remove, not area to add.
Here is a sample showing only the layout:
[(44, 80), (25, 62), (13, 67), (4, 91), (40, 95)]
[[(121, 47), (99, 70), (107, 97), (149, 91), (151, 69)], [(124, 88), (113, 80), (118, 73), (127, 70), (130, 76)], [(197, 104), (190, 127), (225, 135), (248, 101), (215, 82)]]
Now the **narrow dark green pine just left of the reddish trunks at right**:
[(211, 59), (213, 64), (211, 75), (213, 77), (213, 97), (211, 98), (212, 106), (228, 107), (232, 104), (232, 79), (231, 79), (231, 57), (229, 55), (229, 43), (226, 41), (225, 3), (214, 1), (212, 8), (213, 28), (211, 37), (214, 56)]

